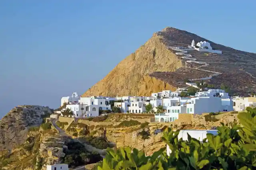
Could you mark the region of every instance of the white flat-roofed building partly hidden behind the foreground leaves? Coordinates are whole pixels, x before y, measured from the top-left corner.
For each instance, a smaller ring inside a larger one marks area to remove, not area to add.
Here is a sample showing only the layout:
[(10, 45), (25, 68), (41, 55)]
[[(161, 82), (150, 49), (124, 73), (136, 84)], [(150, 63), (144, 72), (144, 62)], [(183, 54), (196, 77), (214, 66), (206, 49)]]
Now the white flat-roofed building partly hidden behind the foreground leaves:
[[(188, 134), (189, 134), (192, 138), (198, 139), (200, 142), (202, 142), (203, 139), (206, 138), (207, 133), (211, 133), (212, 135), (217, 135), (218, 130), (181, 130), (178, 135), (178, 140), (182, 138), (184, 141), (187, 141)], [(168, 145), (166, 145), (166, 152), (168, 156), (170, 156), (170, 153), (172, 152)]]

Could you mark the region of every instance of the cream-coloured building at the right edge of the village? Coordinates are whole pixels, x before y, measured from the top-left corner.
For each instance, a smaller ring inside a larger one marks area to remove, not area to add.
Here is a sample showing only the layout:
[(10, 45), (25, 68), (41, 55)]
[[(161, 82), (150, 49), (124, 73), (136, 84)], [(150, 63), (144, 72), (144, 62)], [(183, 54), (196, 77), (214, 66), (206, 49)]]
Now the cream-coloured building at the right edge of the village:
[(244, 111), (246, 107), (256, 106), (256, 97), (240, 98), (236, 97), (232, 99), (233, 108), (235, 111)]

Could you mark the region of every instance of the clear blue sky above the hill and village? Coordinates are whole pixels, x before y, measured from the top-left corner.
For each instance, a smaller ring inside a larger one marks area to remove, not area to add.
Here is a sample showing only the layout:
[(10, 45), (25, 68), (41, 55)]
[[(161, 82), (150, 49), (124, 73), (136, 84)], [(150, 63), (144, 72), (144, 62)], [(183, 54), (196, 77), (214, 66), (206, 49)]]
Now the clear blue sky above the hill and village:
[(171, 26), (256, 53), (255, 1), (0, 1), (0, 117), (84, 93)]

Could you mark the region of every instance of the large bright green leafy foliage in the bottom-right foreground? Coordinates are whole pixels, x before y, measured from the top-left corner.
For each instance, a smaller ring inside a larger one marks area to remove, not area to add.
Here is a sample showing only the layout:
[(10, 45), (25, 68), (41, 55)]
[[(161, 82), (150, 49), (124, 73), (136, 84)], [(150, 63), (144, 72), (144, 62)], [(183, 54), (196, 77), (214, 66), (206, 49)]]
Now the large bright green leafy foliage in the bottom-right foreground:
[(256, 169), (256, 109), (238, 113), (241, 126), (217, 127), (218, 134), (207, 134), (200, 142), (188, 134), (188, 141), (178, 139), (179, 131), (168, 128), (162, 140), (165, 148), (145, 156), (143, 151), (120, 148), (107, 154), (98, 170), (254, 170)]

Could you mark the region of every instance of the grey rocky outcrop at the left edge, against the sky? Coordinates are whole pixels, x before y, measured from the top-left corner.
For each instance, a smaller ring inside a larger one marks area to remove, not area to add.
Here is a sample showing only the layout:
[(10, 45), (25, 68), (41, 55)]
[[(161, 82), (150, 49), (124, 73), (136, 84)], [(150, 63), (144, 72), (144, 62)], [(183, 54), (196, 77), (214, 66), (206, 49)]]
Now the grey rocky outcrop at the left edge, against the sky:
[(52, 109), (43, 106), (14, 107), (0, 120), (0, 147), (11, 150), (24, 143), (28, 128), (40, 125), (43, 118), (52, 112)]

